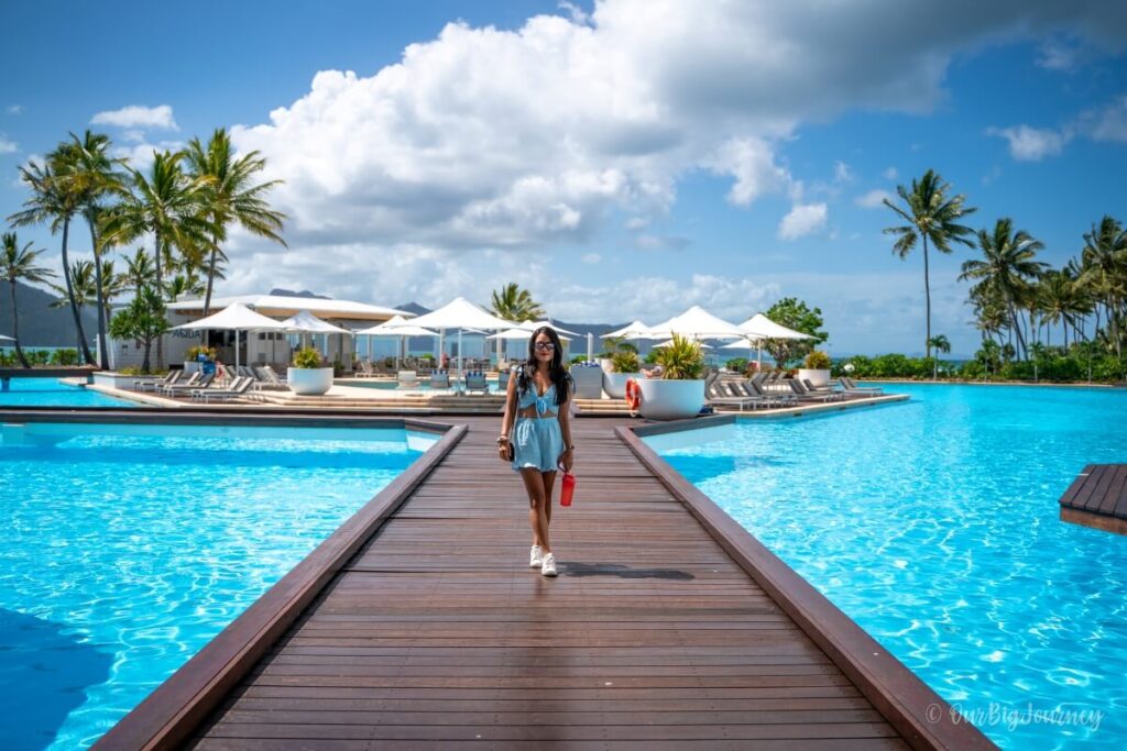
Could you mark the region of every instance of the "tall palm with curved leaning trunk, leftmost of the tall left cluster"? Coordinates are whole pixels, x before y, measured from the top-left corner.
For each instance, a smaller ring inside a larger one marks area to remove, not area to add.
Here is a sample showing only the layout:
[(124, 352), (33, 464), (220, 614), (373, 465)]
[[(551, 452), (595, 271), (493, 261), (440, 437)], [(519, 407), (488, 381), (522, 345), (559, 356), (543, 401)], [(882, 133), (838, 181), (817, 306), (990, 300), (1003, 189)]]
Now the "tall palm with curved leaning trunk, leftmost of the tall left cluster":
[(94, 356), (87, 345), (86, 332), (82, 330), (82, 319), (74, 302), (70, 279), (70, 258), (68, 243), (70, 241), (70, 223), (81, 209), (80, 196), (72, 189), (66, 177), (68, 162), (65, 144), (47, 154), (44, 164), (35, 161), (19, 168), (20, 179), (32, 189), (32, 197), (24, 202), (24, 211), (8, 217), (12, 226), (29, 226), (47, 222), (51, 234), (62, 231), (63, 280), (66, 283), (66, 294), (71, 304), (71, 315), (74, 320), (74, 331), (78, 334), (79, 350), (83, 361), (94, 365)]

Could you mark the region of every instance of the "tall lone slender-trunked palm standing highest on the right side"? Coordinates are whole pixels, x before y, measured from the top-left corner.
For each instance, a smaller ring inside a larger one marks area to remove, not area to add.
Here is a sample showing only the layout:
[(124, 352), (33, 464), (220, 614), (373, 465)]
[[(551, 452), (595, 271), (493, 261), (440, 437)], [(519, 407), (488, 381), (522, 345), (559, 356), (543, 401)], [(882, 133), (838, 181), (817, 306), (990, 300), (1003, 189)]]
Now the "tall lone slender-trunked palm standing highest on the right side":
[[(885, 234), (897, 238), (893, 245), (893, 252), (905, 259), (915, 248), (916, 242), (923, 240), (923, 292), (928, 316), (928, 331), (924, 341), (931, 339), (931, 279), (929, 276), (928, 241), (930, 240), (935, 245), (935, 250), (950, 253), (952, 242), (970, 245), (967, 238), (974, 233), (974, 230), (958, 222), (976, 209), (964, 205), (966, 197), (961, 194), (948, 198), (949, 187), (934, 170), (928, 170), (919, 180), (912, 180), (911, 190), (903, 185), (896, 187), (896, 193), (906, 208), (900, 208), (887, 198), (885, 199), (885, 205), (907, 222), (900, 226), (885, 229)], [(931, 357), (931, 345), (926, 345), (926, 349), (928, 357)]]

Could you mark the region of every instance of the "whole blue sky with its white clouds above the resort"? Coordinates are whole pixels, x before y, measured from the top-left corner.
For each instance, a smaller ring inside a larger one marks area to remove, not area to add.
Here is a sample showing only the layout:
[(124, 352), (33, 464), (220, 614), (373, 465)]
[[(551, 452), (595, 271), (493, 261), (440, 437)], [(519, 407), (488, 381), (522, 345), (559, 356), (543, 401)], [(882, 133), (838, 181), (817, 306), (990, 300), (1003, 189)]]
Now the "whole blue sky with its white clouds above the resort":
[[(607, 323), (798, 296), (838, 354), (922, 349), (922, 260), (891, 256), (876, 191), (934, 168), (1054, 265), (1127, 220), (1119, 3), (837, 5), (6, 3), (0, 214), (68, 131), (143, 168), (225, 126), (291, 220), (289, 250), (232, 239), (221, 293), (433, 306), (516, 280)], [(932, 267), (956, 354), (973, 253)]]

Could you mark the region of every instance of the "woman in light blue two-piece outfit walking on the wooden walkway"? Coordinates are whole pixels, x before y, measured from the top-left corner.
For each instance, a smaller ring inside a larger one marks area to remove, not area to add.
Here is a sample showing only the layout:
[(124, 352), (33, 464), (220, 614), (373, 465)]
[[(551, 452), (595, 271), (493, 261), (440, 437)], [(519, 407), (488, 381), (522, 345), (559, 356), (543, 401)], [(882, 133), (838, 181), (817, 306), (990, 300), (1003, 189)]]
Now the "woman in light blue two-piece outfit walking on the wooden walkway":
[[(556, 575), (556, 556), (548, 539), (552, 519), (556, 470), (571, 471), (574, 446), (568, 399), (571, 376), (564, 369), (564, 348), (551, 327), (540, 327), (529, 340), (529, 359), (508, 379), (505, 417), (497, 450), (521, 473), (529, 493), (532, 552), (529, 565), (545, 576)], [(515, 421), (515, 424), (514, 424)], [(511, 430), (512, 429), (512, 430)]]

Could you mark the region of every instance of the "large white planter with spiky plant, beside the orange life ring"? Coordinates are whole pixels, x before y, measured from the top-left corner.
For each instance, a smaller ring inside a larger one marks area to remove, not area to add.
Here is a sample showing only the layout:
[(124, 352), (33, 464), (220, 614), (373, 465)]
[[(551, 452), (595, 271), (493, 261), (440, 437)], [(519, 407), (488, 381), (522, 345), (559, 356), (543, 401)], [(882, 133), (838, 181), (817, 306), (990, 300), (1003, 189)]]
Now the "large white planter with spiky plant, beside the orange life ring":
[(641, 388), (638, 412), (648, 420), (683, 420), (700, 414), (704, 406), (704, 354), (700, 343), (674, 334), (654, 359), (662, 366), (662, 375), (637, 379)]

